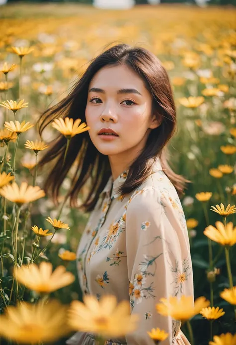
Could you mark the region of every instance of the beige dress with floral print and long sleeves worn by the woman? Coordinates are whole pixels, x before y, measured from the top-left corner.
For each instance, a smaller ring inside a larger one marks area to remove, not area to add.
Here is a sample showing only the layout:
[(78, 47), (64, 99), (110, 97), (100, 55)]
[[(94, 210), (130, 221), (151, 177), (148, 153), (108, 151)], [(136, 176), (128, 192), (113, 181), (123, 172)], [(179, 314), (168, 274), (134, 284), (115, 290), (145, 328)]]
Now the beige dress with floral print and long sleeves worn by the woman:
[[(122, 196), (118, 188), (126, 177), (127, 171), (115, 181), (110, 177), (90, 214), (77, 250), (81, 289), (98, 300), (105, 294), (128, 300), (130, 313), (139, 314), (136, 331), (106, 345), (154, 345), (147, 331), (156, 327), (170, 335), (162, 345), (189, 345), (181, 322), (155, 308), (161, 297), (193, 297), (189, 238), (178, 194), (159, 158), (142, 185)], [(94, 345), (94, 338), (77, 332), (66, 343)]]

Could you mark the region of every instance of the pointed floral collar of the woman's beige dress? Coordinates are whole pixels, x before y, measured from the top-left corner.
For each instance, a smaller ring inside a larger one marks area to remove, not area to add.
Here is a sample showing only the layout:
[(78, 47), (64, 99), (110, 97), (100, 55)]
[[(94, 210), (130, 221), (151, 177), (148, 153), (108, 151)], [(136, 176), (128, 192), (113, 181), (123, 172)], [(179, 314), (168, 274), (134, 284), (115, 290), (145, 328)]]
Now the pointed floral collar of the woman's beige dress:
[[(159, 157), (157, 157), (156, 160), (152, 158), (150, 159), (149, 162), (150, 164), (153, 163), (152, 174), (159, 170), (163, 170)], [(118, 190), (121, 187), (121, 185), (124, 183), (124, 181), (126, 180), (127, 175), (128, 175), (128, 170), (125, 170), (116, 178), (115, 181), (113, 181), (113, 177), (111, 175), (103, 191), (100, 193), (100, 196), (103, 195), (104, 193), (106, 193), (106, 195), (110, 197), (111, 199), (115, 199), (118, 196), (120, 196), (120, 193), (118, 192)]]

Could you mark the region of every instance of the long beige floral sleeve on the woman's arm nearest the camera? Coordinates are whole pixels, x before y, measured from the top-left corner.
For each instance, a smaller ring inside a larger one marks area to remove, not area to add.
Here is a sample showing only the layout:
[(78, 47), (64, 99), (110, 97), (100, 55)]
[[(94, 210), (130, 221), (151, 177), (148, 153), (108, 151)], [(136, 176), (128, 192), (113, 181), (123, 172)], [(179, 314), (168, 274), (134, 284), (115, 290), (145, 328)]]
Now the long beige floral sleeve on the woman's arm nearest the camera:
[(170, 196), (165, 188), (148, 187), (127, 205), (130, 308), (140, 318), (137, 330), (126, 335), (127, 345), (154, 345), (147, 331), (157, 327), (169, 333), (161, 344), (171, 345), (172, 327), (180, 323), (158, 314), (155, 306), (162, 297), (193, 296), (189, 239), (175, 192)]

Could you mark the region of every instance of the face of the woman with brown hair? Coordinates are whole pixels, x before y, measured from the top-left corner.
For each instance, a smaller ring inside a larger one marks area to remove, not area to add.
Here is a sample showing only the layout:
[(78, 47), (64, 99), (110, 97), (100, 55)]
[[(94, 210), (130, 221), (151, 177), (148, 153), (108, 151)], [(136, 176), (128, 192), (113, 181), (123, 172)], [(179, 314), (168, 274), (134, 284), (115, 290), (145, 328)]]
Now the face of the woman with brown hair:
[[(151, 115), (152, 96), (129, 67), (106, 66), (92, 78), (85, 109), (89, 136), (97, 150), (110, 157), (143, 149), (158, 121)], [(99, 135), (103, 128), (118, 136)]]

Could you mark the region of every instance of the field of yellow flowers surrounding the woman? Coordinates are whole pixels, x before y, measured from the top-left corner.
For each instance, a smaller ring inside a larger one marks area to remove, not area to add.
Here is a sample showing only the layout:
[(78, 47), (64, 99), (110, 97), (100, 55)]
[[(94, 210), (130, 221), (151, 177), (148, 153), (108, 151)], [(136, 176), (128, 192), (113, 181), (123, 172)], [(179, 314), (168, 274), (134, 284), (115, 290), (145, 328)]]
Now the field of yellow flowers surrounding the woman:
[[(92, 296), (80, 302), (75, 251), (88, 214), (71, 208), (64, 198), (75, 171), (69, 172), (59, 205), (54, 205), (42, 189), (47, 171), (37, 169), (51, 140), (64, 135), (69, 145), (71, 137), (88, 130), (80, 120), (56, 119), (40, 138), (39, 116), (66, 97), (105, 46), (124, 42), (151, 50), (169, 73), (178, 119), (169, 144), (170, 165), (191, 181), (181, 202), (191, 245), (195, 306), (184, 296), (158, 304), (157, 312), (180, 319), (192, 345), (236, 345), (235, 18), (236, 9), (223, 7), (140, 5), (111, 11), (65, 3), (2, 6), (2, 344), (8, 344), (7, 339), (13, 344), (64, 344), (70, 333), (89, 330), (88, 325), (103, 344), (106, 337), (135, 328), (128, 305), (118, 309), (123, 324), (114, 326), (117, 315), (109, 315), (108, 308), (116, 305), (113, 297), (101, 305)], [(186, 277), (180, 275), (184, 282)], [(105, 319), (110, 325), (106, 333), (101, 326)], [(156, 327), (149, 335), (161, 344), (167, 335)]]

